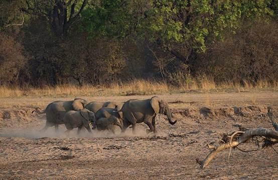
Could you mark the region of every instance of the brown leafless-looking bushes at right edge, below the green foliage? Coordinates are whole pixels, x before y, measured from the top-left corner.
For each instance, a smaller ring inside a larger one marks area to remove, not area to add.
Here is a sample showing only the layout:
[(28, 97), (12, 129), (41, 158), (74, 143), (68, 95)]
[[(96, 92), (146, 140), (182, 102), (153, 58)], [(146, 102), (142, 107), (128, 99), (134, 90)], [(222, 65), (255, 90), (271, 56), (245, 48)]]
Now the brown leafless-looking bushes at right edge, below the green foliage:
[(245, 23), (235, 35), (211, 44), (198, 54), (194, 70), (213, 76), (216, 81), (277, 80), (278, 24), (276, 22)]

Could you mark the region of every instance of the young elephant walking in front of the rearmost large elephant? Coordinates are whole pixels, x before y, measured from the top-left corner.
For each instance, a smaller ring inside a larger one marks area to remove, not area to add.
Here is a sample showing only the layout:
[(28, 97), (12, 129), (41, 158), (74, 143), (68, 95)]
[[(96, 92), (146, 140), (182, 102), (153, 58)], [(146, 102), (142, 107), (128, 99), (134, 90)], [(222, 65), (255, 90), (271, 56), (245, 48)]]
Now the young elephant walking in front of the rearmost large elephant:
[(64, 117), (66, 132), (69, 132), (73, 128), (78, 128), (77, 134), (80, 133), (81, 128), (84, 126), (88, 132), (92, 132), (90, 129), (89, 122), (95, 124), (95, 115), (93, 112), (82, 109), (80, 111), (68, 111)]

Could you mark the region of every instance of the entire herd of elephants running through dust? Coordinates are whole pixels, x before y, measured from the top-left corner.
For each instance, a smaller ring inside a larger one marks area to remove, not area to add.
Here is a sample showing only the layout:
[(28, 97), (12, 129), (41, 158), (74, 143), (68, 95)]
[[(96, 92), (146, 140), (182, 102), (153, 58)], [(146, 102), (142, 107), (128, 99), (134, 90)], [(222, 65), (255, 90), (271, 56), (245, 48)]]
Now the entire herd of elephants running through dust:
[[(55, 101), (50, 103), (45, 110), (37, 108), (35, 111), (39, 114), (46, 114), (46, 125), (41, 131), (55, 126), (58, 130), (60, 124), (65, 124), (67, 131), (78, 128), (77, 133), (82, 127), (88, 132), (92, 129), (109, 130), (115, 133), (114, 127), (119, 126), (121, 132), (132, 125), (132, 132), (136, 131), (136, 124), (144, 122), (150, 128), (147, 133), (157, 133), (156, 116), (161, 113), (167, 116), (171, 125), (173, 121), (171, 111), (167, 102), (158, 97), (152, 97), (147, 100), (128, 100), (124, 103), (117, 102), (88, 102), (83, 99), (74, 99), (73, 101)], [(33, 113), (32, 112), (32, 113)]]

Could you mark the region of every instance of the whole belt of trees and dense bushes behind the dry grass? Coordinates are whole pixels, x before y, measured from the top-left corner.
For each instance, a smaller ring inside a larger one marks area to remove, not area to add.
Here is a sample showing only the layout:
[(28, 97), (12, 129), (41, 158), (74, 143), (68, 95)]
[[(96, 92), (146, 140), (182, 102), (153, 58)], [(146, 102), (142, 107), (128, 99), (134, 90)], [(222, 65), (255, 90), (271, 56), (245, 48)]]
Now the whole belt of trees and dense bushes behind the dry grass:
[(0, 2), (1, 84), (278, 80), (275, 1), (55, 2)]

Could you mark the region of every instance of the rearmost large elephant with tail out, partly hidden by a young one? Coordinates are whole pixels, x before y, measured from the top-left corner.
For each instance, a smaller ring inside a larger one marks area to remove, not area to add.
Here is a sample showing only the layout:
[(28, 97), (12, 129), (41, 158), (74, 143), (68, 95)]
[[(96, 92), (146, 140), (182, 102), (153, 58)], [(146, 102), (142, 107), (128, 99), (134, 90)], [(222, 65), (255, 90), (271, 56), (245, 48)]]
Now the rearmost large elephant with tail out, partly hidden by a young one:
[(50, 103), (45, 110), (39, 111), (37, 108), (34, 112), (39, 114), (46, 113), (46, 125), (41, 131), (47, 130), (49, 127), (55, 126), (56, 132), (58, 131), (58, 126), (64, 124), (64, 116), (66, 112), (74, 110), (79, 111), (84, 109), (89, 102), (83, 99), (74, 99), (73, 101), (55, 101)]

